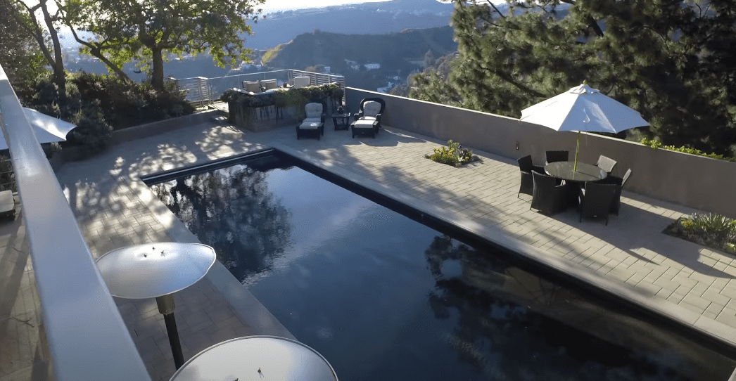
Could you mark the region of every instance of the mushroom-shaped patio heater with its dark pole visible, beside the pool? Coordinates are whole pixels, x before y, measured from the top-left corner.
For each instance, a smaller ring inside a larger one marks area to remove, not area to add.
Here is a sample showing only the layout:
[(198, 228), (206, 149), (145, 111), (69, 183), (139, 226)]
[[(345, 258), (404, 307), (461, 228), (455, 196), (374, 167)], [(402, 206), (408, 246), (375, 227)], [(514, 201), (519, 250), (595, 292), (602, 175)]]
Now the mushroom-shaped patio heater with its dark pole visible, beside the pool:
[(108, 252), (97, 258), (97, 267), (113, 296), (156, 298), (178, 369), (184, 356), (174, 319), (174, 293), (202, 279), (215, 259), (215, 250), (201, 243), (147, 243)]

